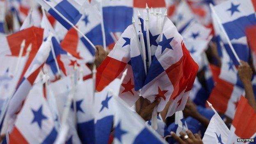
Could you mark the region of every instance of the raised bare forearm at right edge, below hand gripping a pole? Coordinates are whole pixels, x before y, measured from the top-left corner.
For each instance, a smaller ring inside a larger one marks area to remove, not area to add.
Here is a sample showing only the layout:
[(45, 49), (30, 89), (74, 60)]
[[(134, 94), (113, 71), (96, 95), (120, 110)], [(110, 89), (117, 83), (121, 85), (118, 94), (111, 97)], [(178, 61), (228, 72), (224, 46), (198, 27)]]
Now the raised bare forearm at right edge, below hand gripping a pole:
[(251, 82), (244, 82), (245, 98), (247, 98), (249, 105), (256, 110), (256, 101), (254, 98), (254, 91), (252, 89)]

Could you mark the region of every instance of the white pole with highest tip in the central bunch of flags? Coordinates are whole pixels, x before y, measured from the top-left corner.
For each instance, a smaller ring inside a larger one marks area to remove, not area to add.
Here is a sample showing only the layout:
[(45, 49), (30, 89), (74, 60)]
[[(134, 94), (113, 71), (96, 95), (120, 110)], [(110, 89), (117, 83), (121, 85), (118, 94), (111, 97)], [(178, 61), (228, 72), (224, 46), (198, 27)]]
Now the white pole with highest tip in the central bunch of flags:
[(151, 46), (150, 46), (150, 38), (149, 38), (149, 7), (146, 3), (146, 42), (147, 42), (147, 49), (148, 49), (148, 59), (149, 59), (149, 64), (147, 66), (147, 68), (149, 69), (150, 65), (151, 65)]

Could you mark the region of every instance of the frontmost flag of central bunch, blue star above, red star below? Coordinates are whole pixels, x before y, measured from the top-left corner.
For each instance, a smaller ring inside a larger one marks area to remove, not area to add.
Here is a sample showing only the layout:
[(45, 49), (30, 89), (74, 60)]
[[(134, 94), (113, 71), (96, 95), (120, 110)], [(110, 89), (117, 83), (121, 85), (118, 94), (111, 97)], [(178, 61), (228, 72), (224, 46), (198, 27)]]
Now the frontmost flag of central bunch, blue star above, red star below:
[(160, 42), (146, 75), (141, 95), (151, 102), (160, 98), (158, 112), (171, 101), (171, 111), (167, 114), (170, 116), (169, 114), (184, 109), (198, 66), (185, 48), (183, 37), (174, 24), (166, 19), (163, 25)]

